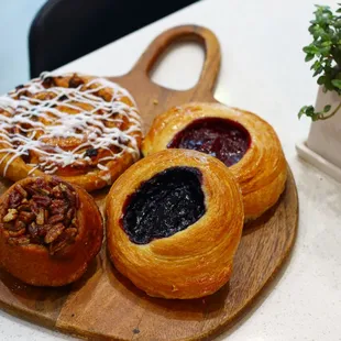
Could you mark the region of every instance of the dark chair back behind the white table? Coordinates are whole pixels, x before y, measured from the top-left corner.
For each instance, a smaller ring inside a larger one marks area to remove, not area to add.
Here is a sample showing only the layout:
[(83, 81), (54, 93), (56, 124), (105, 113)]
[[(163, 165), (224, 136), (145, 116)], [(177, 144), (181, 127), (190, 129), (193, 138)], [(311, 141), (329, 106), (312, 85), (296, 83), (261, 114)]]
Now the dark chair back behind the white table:
[(31, 78), (198, 0), (48, 0), (29, 35)]

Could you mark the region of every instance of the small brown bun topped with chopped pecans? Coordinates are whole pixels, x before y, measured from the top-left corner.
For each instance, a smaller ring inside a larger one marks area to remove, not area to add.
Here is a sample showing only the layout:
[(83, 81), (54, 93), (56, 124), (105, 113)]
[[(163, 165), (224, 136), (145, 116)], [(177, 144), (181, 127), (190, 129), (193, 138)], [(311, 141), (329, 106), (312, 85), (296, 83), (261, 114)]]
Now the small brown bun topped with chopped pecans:
[(78, 279), (102, 238), (92, 197), (56, 177), (28, 177), (0, 199), (0, 264), (28, 284), (61, 286)]

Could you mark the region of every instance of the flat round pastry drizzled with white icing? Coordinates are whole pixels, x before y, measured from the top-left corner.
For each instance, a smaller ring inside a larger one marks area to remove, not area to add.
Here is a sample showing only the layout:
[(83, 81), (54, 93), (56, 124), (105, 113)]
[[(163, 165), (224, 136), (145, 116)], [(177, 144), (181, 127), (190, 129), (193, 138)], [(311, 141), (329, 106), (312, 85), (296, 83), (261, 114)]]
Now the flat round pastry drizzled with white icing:
[(44, 73), (0, 97), (0, 174), (14, 182), (45, 173), (102, 188), (140, 157), (141, 139), (133, 98), (105, 78)]

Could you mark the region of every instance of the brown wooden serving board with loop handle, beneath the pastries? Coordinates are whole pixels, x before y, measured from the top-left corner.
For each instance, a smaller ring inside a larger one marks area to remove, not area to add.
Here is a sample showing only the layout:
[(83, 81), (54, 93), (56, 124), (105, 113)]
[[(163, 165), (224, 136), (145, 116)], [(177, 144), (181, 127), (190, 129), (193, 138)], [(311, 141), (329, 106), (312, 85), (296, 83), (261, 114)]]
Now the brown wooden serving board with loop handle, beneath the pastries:
[[(198, 84), (186, 91), (169, 90), (150, 79), (160, 55), (175, 41), (196, 40), (204, 45), (206, 62)], [(153, 118), (189, 101), (216, 101), (212, 95), (220, 67), (217, 37), (207, 29), (178, 26), (161, 34), (122, 77), (110, 77), (134, 96), (145, 129)], [(9, 182), (1, 179), (0, 191)], [(95, 194), (103, 207), (107, 190)], [(0, 272), (0, 304), (3, 309), (91, 340), (201, 340), (231, 326), (277, 274), (293, 248), (298, 200), (292, 173), (277, 205), (244, 228), (231, 280), (204, 299), (166, 300), (147, 297), (111, 265), (106, 246), (86, 275), (64, 288), (37, 288)], [(37, 268), (38, 271), (38, 268)], [(271, 288), (271, 286), (268, 286)]]

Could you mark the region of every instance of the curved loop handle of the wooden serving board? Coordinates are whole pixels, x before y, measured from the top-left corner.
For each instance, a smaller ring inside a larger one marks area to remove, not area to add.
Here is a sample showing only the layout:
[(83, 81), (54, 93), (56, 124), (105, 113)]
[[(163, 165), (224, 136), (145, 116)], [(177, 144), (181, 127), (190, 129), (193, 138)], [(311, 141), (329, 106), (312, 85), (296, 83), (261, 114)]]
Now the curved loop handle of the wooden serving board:
[(162, 53), (172, 43), (184, 40), (196, 41), (204, 45), (205, 63), (194, 88), (212, 92), (220, 68), (220, 44), (215, 33), (202, 26), (183, 25), (163, 32), (148, 45), (131, 72), (143, 72), (150, 77), (150, 72)]

